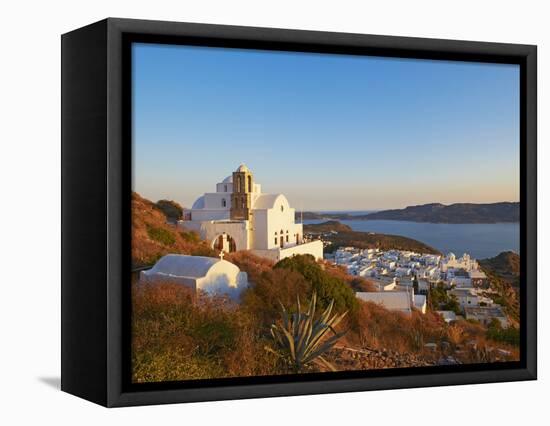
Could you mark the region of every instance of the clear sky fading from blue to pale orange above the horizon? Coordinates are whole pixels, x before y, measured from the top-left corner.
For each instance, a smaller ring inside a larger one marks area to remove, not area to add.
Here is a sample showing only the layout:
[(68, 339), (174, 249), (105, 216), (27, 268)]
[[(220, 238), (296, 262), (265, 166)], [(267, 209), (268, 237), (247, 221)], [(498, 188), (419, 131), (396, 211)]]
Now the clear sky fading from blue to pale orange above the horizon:
[(185, 206), (245, 163), (297, 209), (519, 199), (519, 67), (136, 44), (133, 186)]

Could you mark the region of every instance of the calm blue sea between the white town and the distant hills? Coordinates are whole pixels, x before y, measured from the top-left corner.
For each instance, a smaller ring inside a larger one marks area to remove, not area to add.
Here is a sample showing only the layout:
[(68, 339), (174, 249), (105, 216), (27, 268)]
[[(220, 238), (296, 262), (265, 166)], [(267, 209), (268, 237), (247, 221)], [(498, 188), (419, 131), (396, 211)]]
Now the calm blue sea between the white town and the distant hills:
[[(329, 212), (323, 212), (329, 213)], [(365, 212), (330, 212), (365, 214)], [(304, 224), (328, 219), (304, 220)], [(449, 224), (400, 220), (340, 220), (354, 231), (401, 235), (421, 241), (440, 252), (457, 256), (468, 253), (475, 259), (496, 256), (503, 251), (519, 253), (519, 223)]]

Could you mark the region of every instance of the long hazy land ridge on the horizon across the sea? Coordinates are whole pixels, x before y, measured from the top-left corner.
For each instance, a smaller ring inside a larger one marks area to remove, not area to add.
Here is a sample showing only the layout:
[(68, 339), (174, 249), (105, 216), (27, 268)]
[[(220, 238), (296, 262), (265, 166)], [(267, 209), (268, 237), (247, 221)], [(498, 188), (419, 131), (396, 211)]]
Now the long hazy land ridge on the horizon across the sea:
[(404, 209), (382, 210), (367, 214), (297, 212), (305, 220), (403, 220), (431, 223), (499, 223), (519, 222), (519, 203), (491, 204), (441, 203), (408, 206)]

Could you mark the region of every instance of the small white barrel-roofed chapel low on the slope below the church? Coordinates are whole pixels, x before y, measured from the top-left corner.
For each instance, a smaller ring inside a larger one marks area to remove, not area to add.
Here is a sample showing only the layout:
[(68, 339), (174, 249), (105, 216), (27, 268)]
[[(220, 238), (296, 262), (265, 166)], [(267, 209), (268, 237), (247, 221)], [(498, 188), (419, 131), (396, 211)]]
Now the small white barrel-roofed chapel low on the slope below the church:
[(153, 268), (141, 271), (140, 281), (182, 284), (194, 291), (238, 298), (248, 286), (246, 272), (231, 262), (213, 257), (167, 254)]

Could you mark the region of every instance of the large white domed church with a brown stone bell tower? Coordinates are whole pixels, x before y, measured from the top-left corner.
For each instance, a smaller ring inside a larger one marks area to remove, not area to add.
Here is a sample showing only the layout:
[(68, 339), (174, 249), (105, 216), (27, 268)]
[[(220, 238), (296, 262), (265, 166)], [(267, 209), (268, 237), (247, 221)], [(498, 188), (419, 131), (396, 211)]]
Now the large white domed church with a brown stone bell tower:
[(185, 209), (178, 226), (196, 230), (219, 251), (250, 250), (279, 261), (295, 254), (323, 258), (323, 243), (306, 241), (283, 194), (266, 194), (244, 164)]

